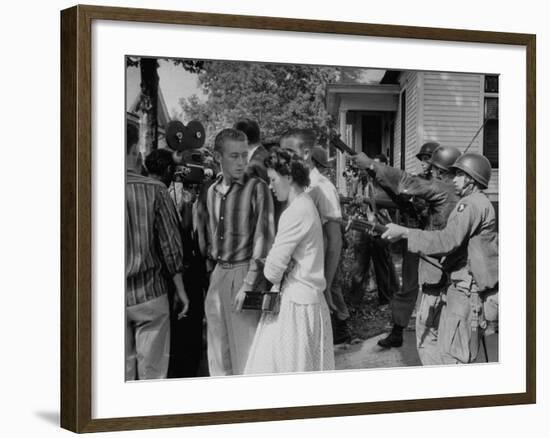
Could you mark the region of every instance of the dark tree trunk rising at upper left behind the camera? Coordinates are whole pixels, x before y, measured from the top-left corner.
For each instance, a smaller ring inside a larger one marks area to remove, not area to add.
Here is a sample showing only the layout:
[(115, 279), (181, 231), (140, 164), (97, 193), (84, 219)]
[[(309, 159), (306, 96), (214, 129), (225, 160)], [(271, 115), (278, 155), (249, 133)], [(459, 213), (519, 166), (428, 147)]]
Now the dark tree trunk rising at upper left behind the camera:
[(142, 111), (147, 115), (145, 150), (148, 152), (158, 146), (158, 61), (156, 58), (141, 58), (141, 99)]

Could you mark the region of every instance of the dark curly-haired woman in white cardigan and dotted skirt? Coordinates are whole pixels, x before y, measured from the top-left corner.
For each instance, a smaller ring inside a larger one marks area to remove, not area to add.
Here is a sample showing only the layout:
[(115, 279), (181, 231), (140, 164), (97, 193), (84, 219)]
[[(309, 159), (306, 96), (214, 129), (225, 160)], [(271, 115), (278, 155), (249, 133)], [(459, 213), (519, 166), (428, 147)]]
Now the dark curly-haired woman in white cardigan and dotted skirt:
[(330, 313), (323, 295), (323, 230), (305, 192), (309, 170), (293, 152), (274, 148), (265, 160), (269, 187), (287, 208), (279, 220), (264, 275), (280, 291), (277, 314), (263, 313), (245, 374), (334, 369)]

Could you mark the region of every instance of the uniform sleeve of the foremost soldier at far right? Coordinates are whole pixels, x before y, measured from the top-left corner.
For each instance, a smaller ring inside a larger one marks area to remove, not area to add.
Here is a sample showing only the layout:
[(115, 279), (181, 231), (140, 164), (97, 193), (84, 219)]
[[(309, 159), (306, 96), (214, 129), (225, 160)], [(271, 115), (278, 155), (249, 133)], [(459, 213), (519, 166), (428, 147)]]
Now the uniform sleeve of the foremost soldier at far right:
[(467, 243), (469, 237), (478, 228), (480, 220), (475, 204), (468, 201), (459, 202), (443, 230), (410, 229), (408, 250), (431, 256), (450, 254)]

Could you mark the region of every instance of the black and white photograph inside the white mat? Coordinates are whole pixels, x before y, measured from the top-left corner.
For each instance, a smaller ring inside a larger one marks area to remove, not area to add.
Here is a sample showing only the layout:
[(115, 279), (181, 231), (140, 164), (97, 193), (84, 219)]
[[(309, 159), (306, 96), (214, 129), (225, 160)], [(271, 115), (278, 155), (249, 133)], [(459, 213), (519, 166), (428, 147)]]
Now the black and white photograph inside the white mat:
[(498, 73), (125, 83), (126, 381), (499, 362)]

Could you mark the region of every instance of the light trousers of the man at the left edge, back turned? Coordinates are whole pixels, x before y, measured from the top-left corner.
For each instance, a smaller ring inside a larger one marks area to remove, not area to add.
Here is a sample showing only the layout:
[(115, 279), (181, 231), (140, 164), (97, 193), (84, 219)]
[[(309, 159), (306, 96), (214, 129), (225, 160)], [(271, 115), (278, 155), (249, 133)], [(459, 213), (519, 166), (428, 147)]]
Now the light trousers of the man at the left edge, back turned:
[(168, 296), (126, 307), (126, 380), (165, 379), (169, 359)]

